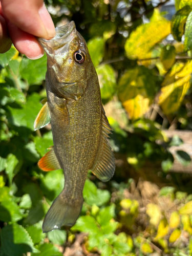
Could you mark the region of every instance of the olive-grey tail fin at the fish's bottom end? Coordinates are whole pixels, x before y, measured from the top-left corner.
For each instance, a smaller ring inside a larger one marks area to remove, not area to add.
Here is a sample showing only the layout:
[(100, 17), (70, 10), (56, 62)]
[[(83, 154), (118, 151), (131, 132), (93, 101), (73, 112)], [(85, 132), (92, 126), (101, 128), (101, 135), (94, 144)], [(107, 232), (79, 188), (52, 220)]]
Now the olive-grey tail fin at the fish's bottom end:
[(48, 232), (53, 229), (60, 229), (61, 226), (73, 226), (80, 215), (83, 197), (67, 199), (65, 190), (54, 200), (46, 214), (42, 231)]

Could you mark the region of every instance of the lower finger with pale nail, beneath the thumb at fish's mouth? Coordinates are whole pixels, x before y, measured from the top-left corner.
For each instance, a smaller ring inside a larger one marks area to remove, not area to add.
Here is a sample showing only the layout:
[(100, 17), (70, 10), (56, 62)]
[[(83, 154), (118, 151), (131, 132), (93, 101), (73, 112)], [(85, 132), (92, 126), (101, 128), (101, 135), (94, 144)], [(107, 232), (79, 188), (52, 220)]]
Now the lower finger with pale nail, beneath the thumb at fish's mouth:
[(35, 36), (8, 23), (9, 35), (15, 48), (30, 59), (38, 59), (44, 55), (44, 50), (39, 45)]

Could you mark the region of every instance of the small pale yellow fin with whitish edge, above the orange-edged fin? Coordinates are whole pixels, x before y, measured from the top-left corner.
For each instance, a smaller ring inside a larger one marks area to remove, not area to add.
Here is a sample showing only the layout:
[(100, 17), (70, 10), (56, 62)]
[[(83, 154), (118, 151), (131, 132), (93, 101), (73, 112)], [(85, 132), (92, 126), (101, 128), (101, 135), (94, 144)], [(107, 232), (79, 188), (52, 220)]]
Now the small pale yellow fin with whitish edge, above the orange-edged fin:
[(41, 103), (44, 105), (42, 106), (41, 110), (39, 111), (39, 113), (35, 119), (35, 122), (34, 122), (35, 131), (48, 125), (51, 120), (47, 99), (42, 100)]

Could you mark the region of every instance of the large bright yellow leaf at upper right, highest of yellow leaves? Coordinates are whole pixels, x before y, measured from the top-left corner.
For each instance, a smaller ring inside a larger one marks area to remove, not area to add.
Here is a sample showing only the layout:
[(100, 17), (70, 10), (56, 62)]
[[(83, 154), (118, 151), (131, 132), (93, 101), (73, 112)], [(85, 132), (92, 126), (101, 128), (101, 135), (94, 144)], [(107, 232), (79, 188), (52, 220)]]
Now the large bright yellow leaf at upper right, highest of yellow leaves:
[(131, 59), (148, 58), (148, 53), (152, 48), (168, 34), (170, 34), (170, 22), (159, 14), (158, 9), (155, 9), (151, 22), (138, 26), (126, 40), (127, 57)]

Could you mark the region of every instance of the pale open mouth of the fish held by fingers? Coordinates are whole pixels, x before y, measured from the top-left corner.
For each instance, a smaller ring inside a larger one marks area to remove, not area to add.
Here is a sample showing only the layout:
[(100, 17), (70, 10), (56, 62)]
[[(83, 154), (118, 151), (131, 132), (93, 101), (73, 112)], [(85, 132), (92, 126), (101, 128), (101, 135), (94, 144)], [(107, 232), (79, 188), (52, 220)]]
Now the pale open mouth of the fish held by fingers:
[(65, 45), (70, 42), (76, 34), (75, 23), (72, 21), (66, 25), (55, 28), (56, 35), (50, 40), (38, 37), (40, 45), (45, 49), (47, 55), (65, 52)]

